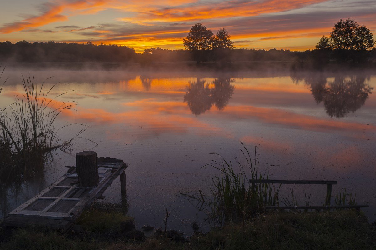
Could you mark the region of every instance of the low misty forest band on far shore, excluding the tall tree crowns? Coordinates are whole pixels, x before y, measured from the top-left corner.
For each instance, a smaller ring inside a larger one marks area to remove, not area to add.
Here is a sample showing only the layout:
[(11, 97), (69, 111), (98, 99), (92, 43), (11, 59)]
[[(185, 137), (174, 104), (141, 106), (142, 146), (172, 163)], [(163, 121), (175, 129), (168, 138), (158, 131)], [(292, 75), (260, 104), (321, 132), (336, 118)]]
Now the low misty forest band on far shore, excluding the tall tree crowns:
[[(147, 65), (158, 62), (195, 61), (188, 50), (161, 48), (145, 49), (136, 53), (134, 49), (118, 45), (94, 45), (91, 42), (61, 43), (20, 41), (0, 42), (0, 62), (125, 62)], [(197, 55), (196, 55), (197, 56)], [(329, 61), (352, 61), (364, 63), (376, 61), (376, 49), (370, 51), (326, 50), (290, 51), (284, 49), (217, 49), (200, 51), (200, 61), (221, 63), (245, 61), (312, 61), (322, 65)]]

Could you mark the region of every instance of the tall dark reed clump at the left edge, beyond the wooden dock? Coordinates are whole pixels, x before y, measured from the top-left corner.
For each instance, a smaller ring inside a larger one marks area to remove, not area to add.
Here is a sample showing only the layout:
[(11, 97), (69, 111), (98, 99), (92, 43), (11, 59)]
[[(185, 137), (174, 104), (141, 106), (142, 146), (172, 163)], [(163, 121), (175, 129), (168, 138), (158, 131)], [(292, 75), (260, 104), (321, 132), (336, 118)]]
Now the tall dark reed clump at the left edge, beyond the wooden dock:
[(21, 80), (24, 93), (15, 96), (11, 105), (0, 108), (0, 181), (3, 182), (32, 177), (43, 170), (59, 141), (54, 121), (64, 109), (74, 106), (55, 100), (62, 94), (49, 98), (53, 87), (45, 90), (44, 82), (39, 85), (33, 76), (22, 76)]

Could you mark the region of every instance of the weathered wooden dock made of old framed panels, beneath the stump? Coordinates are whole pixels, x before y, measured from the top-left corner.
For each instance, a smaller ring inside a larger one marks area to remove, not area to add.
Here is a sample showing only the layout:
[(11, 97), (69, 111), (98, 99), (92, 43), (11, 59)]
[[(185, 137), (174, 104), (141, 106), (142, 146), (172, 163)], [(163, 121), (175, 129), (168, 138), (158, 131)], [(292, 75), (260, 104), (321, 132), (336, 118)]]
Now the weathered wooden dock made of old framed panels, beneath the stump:
[(103, 192), (118, 175), (121, 177), (121, 192), (125, 191), (124, 170), (127, 164), (123, 160), (98, 157), (97, 167), (99, 182), (96, 185), (80, 186), (76, 167), (70, 167), (51, 186), (10, 212), (4, 224), (17, 227), (39, 225), (54, 229), (70, 228), (85, 207), (89, 207), (97, 198), (103, 198)]

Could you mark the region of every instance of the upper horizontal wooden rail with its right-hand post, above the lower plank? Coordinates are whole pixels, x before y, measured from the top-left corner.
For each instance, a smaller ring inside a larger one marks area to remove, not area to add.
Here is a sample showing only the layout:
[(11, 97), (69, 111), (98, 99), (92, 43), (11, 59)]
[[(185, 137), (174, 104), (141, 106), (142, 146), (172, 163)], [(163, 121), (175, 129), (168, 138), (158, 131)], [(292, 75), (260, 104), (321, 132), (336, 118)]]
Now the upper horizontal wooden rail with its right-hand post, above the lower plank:
[(326, 185), (326, 199), (325, 205), (330, 206), (330, 200), (332, 196), (332, 185), (336, 185), (337, 181), (325, 181), (325, 180), (256, 180), (249, 179), (252, 186), (255, 183), (273, 183), (273, 184), (318, 184)]

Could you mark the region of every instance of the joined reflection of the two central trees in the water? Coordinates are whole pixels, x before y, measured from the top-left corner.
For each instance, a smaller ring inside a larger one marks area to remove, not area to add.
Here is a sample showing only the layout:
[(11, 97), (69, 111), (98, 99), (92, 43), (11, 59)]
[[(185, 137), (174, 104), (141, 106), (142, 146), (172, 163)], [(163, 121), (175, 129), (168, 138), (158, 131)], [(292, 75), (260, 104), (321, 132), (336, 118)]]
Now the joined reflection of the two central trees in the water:
[(202, 78), (197, 78), (194, 82), (189, 82), (184, 96), (184, 102), (187, 102), (192, 114), (200, 115), (210, 110), (215, 105), (218, 110), (223, 110), (229, 103), (229, 100), (235, 90), (231, 84), (235, 82), (231, 78), (217, 78), (214, 80), (214, 87), (209, 88)]

